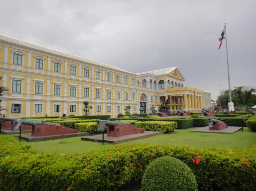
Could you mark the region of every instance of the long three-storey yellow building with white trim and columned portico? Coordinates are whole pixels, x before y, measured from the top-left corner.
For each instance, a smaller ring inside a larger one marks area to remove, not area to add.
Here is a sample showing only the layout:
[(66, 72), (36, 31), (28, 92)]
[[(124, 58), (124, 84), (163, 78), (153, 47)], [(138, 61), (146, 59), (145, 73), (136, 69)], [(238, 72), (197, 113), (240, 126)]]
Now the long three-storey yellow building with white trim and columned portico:
[(169, 109), (198, 112), (203, 91), (184, 85), (178, 68), (134, 74), (120, 68), (0, 35), (0, 76), (9, 89), (6, 117), (149, 113), (169, 98)]

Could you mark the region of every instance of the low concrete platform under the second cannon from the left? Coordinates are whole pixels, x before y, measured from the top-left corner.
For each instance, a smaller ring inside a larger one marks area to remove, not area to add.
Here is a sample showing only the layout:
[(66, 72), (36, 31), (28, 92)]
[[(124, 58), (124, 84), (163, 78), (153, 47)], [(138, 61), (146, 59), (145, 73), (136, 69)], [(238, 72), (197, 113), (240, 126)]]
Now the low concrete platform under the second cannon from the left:
[[(31, 131), (30, 131), (30, 133), (31, 133)], [(87, 133), (87, 132), (78, 131), (78, 133), (66, 133), (66, 134), (63, 134), (63, 138), (81, 137), (81, 136), (88, 136), (88, 135), (89, 135), (89, 133)], [(101, 135), (101, 137), (102, 137), (102, 135)], [(32, 136), (31, 134), (29, 134), (29, 135), (21, 135), (21, 139), (27, 140), (28, 142), (48, 141), (48, 140), (61, 139), (61, 138), (62, 138), (62, 134), (44, 135), (44, 136)]]

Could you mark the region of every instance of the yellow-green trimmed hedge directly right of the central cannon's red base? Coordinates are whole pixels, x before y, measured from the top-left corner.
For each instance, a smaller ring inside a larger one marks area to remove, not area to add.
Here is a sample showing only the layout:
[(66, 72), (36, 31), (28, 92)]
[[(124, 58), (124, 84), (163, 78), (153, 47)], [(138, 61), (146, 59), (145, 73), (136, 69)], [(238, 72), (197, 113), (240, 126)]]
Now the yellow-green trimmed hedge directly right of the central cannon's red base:
[(176, 122), (164, 122), (164, 121), (146, 121), (146, 122), (136, 122), (135, 127), (144, 128), (146, 131), (162, 131), (171, 132), (177, 128)]

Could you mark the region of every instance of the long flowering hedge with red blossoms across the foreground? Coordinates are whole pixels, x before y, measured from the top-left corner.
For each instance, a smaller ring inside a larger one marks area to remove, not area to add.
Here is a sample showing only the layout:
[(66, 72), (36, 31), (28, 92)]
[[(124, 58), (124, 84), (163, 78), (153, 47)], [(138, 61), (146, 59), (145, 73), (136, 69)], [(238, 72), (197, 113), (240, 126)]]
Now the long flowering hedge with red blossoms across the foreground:
[[(118, 190), (142, 179), (145, 168), (165, 155), (183, 161), (194, 172), (198, 188), (247, 191), (256, 188), (256, 145), (235, 149), (125, 144), (83, 154), (20, 152), (25, 145), (0, 136), (0, 185), (8, 191)], [(8, 150), (11, 150), (10, 152)], [(20, 152), (17, 154), (17, 152)], [(5, 154), (3, 154), (5, 153)], [(8, 155), (7, 155), (8, 153)]]

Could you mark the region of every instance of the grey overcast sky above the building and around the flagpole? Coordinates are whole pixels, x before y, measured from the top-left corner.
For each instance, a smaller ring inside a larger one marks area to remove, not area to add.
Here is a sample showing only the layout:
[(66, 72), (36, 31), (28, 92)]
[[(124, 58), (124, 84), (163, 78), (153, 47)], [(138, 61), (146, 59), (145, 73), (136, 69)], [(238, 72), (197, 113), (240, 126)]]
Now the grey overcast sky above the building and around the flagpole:
[(226, 22), (231, 87), (256, 86), (256, 0), (0, 0), (0, 7), (2, 35), (113, 59), (133, 73), (178, 67), (185, 85), (214, 100), (228, 89), (225, 41), (218, 50)]

